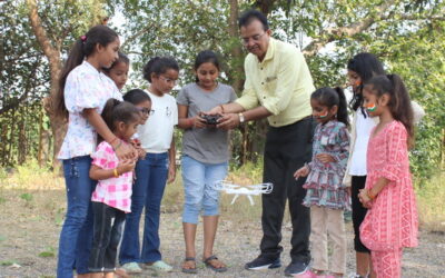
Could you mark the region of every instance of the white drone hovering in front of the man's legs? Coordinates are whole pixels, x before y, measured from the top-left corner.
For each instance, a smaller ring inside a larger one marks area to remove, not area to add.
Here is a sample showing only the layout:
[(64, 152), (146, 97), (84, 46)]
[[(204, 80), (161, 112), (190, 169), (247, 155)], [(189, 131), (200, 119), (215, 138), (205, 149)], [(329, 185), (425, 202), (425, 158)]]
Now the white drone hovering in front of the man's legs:
[(250, 206), (254, 206), (255, 202), (251, 196), (270, 193), (271, 190), (274, 189), (274, 185), (267, 182), (253, 186), (238, 186), (226, 180), (219, 180), (215, 182), (215, 189), (219, 191), (225, 191), (226, 193), (235, 195), (234, 199), (231, 199), (230, 205), (234, 205), (236, 199), (238, 199), (240, 195), (245, 195), (249, 199)]

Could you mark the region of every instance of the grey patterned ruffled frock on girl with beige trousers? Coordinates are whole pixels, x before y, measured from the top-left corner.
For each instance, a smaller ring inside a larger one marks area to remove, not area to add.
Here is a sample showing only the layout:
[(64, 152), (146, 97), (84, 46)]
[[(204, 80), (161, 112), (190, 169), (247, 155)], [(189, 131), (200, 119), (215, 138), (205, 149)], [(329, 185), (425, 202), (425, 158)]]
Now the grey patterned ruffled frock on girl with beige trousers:
[[(335, 162), (323, 163), (316, 156), (329, 153)], [(307, 189), (303, 205), (330, 209), (350, 209), (350, 199), (343, 185), (349, 156), (349, 133), (345, 123), (332, 120), (318, 123), (314, 133), (310, 172), (303, 186)]]

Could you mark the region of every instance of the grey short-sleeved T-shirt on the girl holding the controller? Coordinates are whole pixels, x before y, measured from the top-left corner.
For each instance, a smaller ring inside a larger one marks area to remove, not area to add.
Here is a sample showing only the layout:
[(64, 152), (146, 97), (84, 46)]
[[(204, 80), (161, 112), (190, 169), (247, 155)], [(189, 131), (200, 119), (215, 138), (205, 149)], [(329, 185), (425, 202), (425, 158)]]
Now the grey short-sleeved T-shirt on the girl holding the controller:
[[(197, 83), (189, 83), (181, 89), (176, 101), (188, 107), (187, 117), (190, 118), (235, 99), (230, 86), (218, 83), (215, 90), (204, 91)], [(228, 131), (214, 127), (187, 129), (182, 136), (182, 153), (204, 163), (226, 162), (229, 159)]]

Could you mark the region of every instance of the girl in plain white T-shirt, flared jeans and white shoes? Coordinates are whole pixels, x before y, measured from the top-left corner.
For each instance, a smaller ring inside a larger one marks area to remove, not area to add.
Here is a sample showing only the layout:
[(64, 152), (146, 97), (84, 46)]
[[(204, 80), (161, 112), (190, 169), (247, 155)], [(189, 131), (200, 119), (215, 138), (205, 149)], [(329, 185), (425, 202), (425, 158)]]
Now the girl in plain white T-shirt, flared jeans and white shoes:
[[(136, 181), (131, 196), (131, 214), (127, 215), (119, 261), (128, 272), (140, 272), (139, 264), (160, 271), (171, 267), (159, 251), (160, 202), (166, 182), (175, 180), (174, 127), (178, 123), (176, 100), (169, 95), (179, 75), (178, 63), (156, 57), (144, 67), (144, 78), (150, 82), (146, 93), (151, 99), (151, 112), (138, 127), (142, 149), (147, 152), (136, 165)], [(145, 211), (142, 247), (139, 245), (139, 221)]]

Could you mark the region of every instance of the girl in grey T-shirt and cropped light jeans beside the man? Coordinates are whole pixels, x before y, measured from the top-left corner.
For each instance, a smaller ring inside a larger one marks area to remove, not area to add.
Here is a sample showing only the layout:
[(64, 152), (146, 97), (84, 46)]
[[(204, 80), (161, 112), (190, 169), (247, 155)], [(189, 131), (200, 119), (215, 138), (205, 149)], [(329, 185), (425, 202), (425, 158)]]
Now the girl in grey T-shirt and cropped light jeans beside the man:
[(220, 67), (215, 52), (201, 51), (195, 61), (196, 82), (182, 88), (177, 97), (182, 137), (182, 180), (185, 205), (182, 214), (186, 259), (182, 272), (196, 274), (195, 237), (198, 216), (202, 210), (204, 254), (206, 266), (217, 272), (227, 270), (214, 254), (212, 247), (218, 226), (219, 192), (215, 182), (227, 175), (229, 151), (228, 131), (216, 128), (216, 118), (206, 118), (201, 111), (233, 102), (231, 87), (217, 81)]

